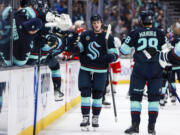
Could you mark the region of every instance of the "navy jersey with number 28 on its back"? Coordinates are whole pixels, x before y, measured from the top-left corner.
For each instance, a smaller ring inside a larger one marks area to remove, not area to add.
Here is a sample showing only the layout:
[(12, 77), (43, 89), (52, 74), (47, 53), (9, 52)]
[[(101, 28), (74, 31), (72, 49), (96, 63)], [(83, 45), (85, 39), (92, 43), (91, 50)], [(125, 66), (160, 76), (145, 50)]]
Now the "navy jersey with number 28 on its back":
[(167, 38), (165, 34), (159, 29), (140, 27), (130, 32), (122, 44), (120, 51), (123, 54), (130, 54), (131, 49), (134, 47), (135, 62), (157, 62), (158, 53), (151, 59), (148, 59), (143, 51), (147, 48), (154, 48), (156, 51), (160, 51), (166, 42)]

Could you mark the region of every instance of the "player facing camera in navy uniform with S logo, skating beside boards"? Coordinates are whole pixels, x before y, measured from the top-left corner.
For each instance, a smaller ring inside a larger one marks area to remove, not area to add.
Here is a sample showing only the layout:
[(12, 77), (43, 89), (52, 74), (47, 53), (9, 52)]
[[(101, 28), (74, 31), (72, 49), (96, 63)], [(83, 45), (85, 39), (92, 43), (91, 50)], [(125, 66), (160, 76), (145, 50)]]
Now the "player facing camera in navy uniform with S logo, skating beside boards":
[(79, 90), (81, 92), (81, 112), (83, 121), (81, 127), (89, 126), (92, 93), (92, 127), (99, 127), (98, 118), (102, 106), (102, 96), (105, 89), (108, 64), (116, 61), (118, 52), (114, 45), (114, 38), (109, 36), (108, 52), (106, 52), (105, 35), (102, 31), (102, 19), (94, 15), (90, 19), (92, 31), (81, 34), (77, 45), (71, 46), (71, 51), (79, 52)]

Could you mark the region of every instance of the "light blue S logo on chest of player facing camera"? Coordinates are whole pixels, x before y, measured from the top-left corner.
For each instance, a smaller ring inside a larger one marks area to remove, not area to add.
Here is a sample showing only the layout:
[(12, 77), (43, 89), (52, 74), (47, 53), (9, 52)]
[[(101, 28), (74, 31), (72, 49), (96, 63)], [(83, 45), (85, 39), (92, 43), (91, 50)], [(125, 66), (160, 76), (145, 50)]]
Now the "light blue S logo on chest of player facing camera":
[(96, 48), (100, 48), (100, 47), (101, 47), (101, 46), (100, 46), (98, 43), (96, 43), (96, 42), (91, 42), (91, 43), (89, 43), (88, 49), (89, 49), (89, 51), (91, 52), (91, 54), (88, 53), (87, 56), (88, 56), (90, 59), (95, 60), (97, 57), (100, 56), (100, 53), (99, 53), (99, 51), (98, 51)]

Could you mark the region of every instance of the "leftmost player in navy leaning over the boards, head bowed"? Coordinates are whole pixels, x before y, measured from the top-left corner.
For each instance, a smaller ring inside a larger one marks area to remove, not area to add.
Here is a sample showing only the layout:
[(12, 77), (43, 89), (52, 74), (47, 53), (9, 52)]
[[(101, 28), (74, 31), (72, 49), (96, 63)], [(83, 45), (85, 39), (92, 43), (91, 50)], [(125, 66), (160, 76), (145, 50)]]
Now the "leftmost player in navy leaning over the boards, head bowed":
[[(11, 7), (7, 7), (2, 14), (4, 21), (10, 25)], [(30, 7), (23, 8), (14, 13), (13, 19), (13, 64), (23, 66), (26, 64), (33, 46), (33, 39), (42, 27), (42, 21), (37, 12)], [(7, 66), (10, 66), (10, 41), (2, 48), (2, 56)]]

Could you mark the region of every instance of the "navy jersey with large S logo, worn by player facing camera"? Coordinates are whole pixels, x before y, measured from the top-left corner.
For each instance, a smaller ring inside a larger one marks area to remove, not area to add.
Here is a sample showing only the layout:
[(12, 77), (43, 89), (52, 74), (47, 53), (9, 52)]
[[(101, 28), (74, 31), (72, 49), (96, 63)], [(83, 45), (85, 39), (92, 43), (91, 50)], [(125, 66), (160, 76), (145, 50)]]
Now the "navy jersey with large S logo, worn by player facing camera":
[(81, 34), (78, 47), (80, 49), (81, 69), (94, 72), (106, 72), (108, 63), (104, 58), (108, 53), (117, 53), (114, 45), (114, 38), (109, 36), (108, 52), (106, 50), (105, 32), (95, 34), (93, 31), (86, 31)]

